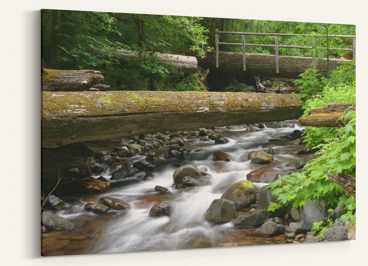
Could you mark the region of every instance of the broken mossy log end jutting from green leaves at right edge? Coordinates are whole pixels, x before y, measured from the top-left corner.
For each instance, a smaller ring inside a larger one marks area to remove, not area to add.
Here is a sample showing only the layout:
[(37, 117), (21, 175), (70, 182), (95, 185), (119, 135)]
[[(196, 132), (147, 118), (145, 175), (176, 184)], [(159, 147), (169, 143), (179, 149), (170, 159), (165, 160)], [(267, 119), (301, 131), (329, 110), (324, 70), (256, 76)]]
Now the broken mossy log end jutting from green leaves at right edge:
[(350, 107), (355, 112), (355, 102), (329, 103), (325, 106), (317, 107), (307, 111), (308, 115), (299, 118), (302, 126), (314, 127), (339, 127), (344, 126), (344, 122), (339, 118)]

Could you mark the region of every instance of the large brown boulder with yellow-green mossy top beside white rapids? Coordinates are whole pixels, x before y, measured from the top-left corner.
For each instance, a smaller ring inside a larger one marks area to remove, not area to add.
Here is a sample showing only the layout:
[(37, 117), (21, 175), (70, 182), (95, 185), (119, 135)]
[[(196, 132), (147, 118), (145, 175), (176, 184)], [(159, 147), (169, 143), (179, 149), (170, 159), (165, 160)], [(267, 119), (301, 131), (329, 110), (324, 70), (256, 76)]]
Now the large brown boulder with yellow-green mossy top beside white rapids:
[(252, 182), (239, 181), (229, 187), (221, 198), (234, 202), (237, 209), (246, 208), (256, 202), (257, 190)]

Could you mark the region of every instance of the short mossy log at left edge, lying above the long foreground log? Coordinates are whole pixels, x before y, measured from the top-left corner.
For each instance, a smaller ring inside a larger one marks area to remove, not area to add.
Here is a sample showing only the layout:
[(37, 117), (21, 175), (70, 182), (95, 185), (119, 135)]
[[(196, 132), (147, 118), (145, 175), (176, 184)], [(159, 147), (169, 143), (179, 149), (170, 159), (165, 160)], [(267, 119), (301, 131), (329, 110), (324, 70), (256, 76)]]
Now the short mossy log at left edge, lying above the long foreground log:
[[(104, 79), (100, 71), (95, 70), (55, 70), (41, 69), (41, 90), (50, 91), (86, 91), (94, 85), (101, 88)], [(108, 86), (109, 87), (109, 86)]]

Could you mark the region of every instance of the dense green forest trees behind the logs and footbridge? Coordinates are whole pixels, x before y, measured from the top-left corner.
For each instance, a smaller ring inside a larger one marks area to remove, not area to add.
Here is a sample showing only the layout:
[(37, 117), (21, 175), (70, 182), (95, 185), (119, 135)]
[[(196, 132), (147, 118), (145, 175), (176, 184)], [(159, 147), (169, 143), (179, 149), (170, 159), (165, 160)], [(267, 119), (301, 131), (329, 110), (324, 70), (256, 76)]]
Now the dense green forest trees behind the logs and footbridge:
[[(100, 70), (112, 90), (202, 91), (196, 74), (187, 74), (157, 63), (154, 52), (204, 57), (215, 47), (215, 29), (221, 31), (354, 35), (354, 25), (299, 23), (252, 19), (143, 15), (126, 13), (42, 10), (41, 56), (51, 69)], [(241, 42), (239, 35), (220, 35), (220, 41)], [(316, 38), (316, 47), (326, 47)], [(351, 40), (350, 40), (351, 41)], [(248, 43), (272, 44), (273, 36), (246, 36)], [(280, 45), (311, 46), (303, 36), (280, 36)], [(330, 47), (352, 48), (347, 39), (329, 38)], [(140, 57), (122, 62), (116, 49), (138, 51)], [(241, 52), (241, 47), (221, 46), (222, 51)], [(274, 54), (274, 48), (249, 47), (247, 53)], [(143, 56), (149, 55), (149, 56)], [(311, 56), (312, 50), (279, 49), (280, 55)], [(329, 50), (329, 56), (344, 56)], [(326, 57), (327, 50), (317, 50)]]

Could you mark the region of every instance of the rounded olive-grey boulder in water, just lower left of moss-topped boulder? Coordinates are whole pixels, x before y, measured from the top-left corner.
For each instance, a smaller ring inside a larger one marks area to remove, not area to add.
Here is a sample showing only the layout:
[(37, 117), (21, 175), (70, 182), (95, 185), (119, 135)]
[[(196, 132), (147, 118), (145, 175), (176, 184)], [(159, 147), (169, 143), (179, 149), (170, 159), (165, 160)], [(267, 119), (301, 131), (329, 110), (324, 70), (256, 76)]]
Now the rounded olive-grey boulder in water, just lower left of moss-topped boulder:
[(236, 217), (235, 204), (228, 200), (214, 200), (205, 213), (205, 219), (212, 224), (225, 224)]

